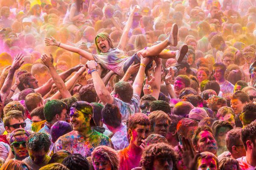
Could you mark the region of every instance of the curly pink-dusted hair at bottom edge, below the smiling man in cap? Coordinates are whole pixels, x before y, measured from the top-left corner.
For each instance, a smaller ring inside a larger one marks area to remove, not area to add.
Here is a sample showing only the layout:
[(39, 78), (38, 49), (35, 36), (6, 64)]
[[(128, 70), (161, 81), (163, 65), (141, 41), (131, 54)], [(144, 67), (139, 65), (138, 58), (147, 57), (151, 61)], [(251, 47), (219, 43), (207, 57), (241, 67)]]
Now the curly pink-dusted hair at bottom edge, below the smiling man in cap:
[(103, 157), (105, 160), (110, 161), (111, 170), (119, 170), (119, 157), (116, 150), (107, 146), (98, 146), (92, 152), (92, 160), (95, 161), (96, 157)]

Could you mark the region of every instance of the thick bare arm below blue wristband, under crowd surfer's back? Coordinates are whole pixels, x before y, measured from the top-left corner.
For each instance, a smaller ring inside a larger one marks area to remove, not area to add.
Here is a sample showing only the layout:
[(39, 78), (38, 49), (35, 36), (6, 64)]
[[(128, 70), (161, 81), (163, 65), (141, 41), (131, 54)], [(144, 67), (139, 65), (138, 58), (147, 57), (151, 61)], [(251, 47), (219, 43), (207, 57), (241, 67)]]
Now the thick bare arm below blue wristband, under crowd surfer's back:
[(106, 86), (104, 85), (102, 79), (99, 77), (99, 74), (97, 71), (92, 72), (93, 77), (93, 85), (96, 90), (97, 95), (99, 96), (99, 99), (102, 101), (102, 103), (105, 105), (106, 103), (113, 104), (113, 97), (108, 92)]

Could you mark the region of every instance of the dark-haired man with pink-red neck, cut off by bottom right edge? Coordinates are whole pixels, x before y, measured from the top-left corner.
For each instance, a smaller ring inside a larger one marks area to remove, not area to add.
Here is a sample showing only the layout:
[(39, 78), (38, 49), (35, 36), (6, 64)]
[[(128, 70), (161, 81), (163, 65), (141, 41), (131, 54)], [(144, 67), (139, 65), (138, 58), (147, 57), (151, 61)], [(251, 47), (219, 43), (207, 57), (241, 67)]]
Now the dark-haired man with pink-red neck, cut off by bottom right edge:
[(246, 156), (237, 159), (239, 167), (241, 170), (254, 170), (256, 166), (256, 122), (252, 122), (242, 129), (241, 139)]

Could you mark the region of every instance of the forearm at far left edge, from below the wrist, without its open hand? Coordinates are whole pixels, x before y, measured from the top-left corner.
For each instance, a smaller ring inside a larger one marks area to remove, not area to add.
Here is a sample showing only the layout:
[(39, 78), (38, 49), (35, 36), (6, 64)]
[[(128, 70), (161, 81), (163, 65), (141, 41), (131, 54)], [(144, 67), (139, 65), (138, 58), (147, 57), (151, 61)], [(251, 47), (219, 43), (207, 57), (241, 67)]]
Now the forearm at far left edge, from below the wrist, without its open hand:
[(0, 94), (3, 97), (3, 101), (5, 101), (6, 97), (9, 95), (11, 87), (12, 87), (12, 79), (15, 73), (15, 69), (10, 69), (5, 82), (3, 83), (3, 87), (1, 88)]

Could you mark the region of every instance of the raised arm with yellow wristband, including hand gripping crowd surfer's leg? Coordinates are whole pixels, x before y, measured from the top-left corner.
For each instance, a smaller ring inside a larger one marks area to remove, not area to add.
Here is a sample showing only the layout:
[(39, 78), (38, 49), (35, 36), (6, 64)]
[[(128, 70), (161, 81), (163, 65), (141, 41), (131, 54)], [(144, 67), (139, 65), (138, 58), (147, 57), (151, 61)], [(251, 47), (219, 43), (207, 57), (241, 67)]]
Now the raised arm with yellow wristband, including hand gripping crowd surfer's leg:
[(145, 78), (146, 65), (148, 65), (148, 63), (151, 61), (152, 61), (152, 59), (149, 57), (144, 58), (144, 57), (140, 56), (140, 68), (139, 68), (137, 76), (134, 79), (134, 84), (132, 85), (132, 88), (134, 90), (133, 92), (138, 94), (139, 96), (141, 94), (141, 89), (143, 88), (143, 81)]

